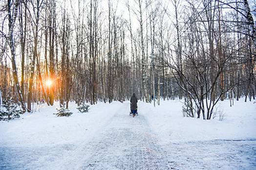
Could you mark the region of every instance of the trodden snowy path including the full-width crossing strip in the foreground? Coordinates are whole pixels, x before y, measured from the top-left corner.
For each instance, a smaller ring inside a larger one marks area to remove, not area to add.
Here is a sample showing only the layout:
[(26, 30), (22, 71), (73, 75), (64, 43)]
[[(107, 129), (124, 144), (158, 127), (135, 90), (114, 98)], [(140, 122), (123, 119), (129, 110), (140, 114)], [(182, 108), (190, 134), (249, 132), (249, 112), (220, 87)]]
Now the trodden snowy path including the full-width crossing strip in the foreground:
[(170, 141), (163, 145), (151, 130), (147, 113), (128, 116), (128, 103), (117, 110), (94, 136), (80, 143), (0, 146), (0, 170), (256, 169), (255, 140)]

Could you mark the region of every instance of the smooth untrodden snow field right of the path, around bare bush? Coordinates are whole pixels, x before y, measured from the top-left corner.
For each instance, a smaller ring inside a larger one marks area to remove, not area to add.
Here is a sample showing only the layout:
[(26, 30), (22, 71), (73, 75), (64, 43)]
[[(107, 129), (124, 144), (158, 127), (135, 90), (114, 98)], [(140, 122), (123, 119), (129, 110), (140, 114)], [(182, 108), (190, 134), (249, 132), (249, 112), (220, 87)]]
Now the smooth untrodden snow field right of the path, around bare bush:
[(183, 118), (180, 101), (161, 101), (155, 108), (143, 102), (139, 105), (162, 142), (256, 140), (256, 102), (243, 101), (234, 101), (232, 107), (229, 100), (217, 103), (217, 111), (224, 115), (223, 121), (219, 121), (219, 117), (212, 120)]

